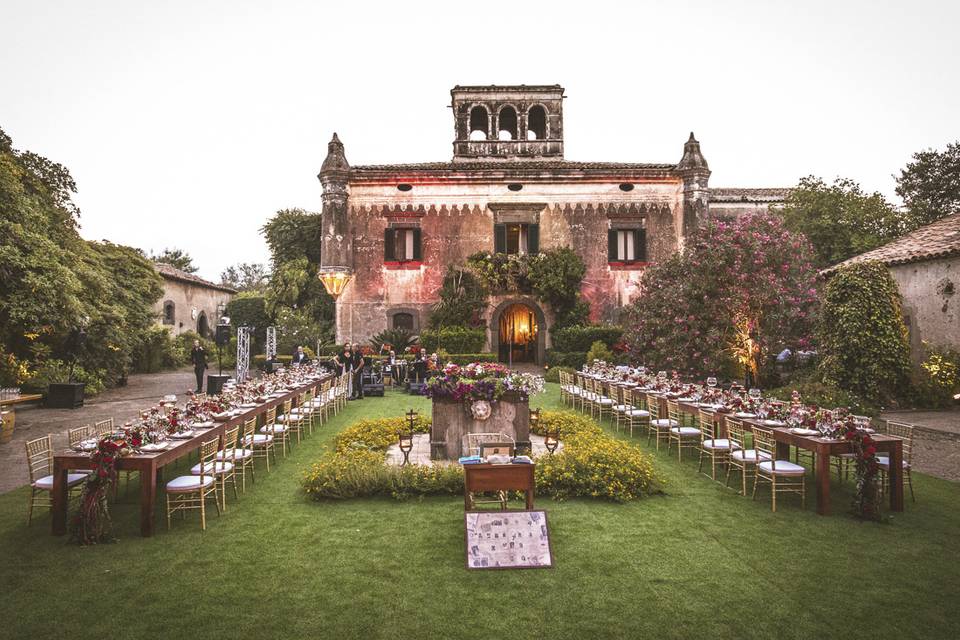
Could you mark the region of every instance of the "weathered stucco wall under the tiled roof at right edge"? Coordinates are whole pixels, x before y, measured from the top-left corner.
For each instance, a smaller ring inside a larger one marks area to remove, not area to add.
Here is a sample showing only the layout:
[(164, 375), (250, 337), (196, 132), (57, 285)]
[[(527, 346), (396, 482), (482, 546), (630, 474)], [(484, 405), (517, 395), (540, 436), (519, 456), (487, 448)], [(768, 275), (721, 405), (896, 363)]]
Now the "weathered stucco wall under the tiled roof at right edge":
[(890, 274), (903, 297), (914, 359), (922, 357), (922, 342), (960, 349), (960, 258), (894, 265)]

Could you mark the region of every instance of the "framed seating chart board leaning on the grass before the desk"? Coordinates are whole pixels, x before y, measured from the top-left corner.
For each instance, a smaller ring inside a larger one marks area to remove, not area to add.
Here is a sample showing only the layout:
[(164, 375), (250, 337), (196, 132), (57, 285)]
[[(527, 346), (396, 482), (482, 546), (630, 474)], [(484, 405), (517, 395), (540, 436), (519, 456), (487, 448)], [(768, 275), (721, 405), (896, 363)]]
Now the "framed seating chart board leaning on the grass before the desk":
[(546, 511), (468, 511), (467, 569), (553, 566)]

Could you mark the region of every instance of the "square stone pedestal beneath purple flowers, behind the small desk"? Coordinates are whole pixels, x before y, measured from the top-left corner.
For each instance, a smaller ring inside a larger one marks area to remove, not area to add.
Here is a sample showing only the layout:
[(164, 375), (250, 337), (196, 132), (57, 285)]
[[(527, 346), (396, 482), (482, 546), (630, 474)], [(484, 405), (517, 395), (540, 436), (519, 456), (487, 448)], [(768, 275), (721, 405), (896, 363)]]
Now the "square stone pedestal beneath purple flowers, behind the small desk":
[(527, 396), (507, 392), (490, 403), (490, 417), (477, 420), (470, 402), (433, 400), (433, 425), (430, 427), (430, 459), (456, 460), (464, 455), (468, 433), (503, 433), (513, 438), (517, 448), (530, 447), (530, 404)]

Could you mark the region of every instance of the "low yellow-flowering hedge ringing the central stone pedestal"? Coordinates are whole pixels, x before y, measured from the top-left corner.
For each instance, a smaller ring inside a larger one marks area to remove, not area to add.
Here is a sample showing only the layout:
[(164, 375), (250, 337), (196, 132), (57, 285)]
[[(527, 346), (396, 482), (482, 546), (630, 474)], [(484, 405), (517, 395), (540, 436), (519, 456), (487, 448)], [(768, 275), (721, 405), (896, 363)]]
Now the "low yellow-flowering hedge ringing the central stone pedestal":
[[(569, 411), (544, 411), (535, 431), (543, 435), (559, 427), (563, 449), (537, 459), (539, 495), (575, 496), (615, 502), (635, 500), (659, 485), (650, 459), (637, 447), (611, 438), (593, 420)], [(406, 418), (361, 420), (342, 431), (335, 450), (316, 462), (303, 478), (315, 500), (364, 496), (462, 495), (463, 469), (454, 464), (432, 466), (386, 464), (384, 453), (407, 428)], [(427, 433), (430, 420), (420, 418), (414, 431)]]

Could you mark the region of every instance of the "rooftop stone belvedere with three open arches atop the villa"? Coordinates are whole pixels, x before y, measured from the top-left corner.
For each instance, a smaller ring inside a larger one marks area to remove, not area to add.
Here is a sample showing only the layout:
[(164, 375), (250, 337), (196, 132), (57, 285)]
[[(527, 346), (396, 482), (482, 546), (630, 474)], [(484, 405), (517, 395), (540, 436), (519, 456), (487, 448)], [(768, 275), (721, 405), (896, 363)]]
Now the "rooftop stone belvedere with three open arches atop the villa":
[(450, 96), (454, 162), (563, 159), (560, 85), (457, 85)]

